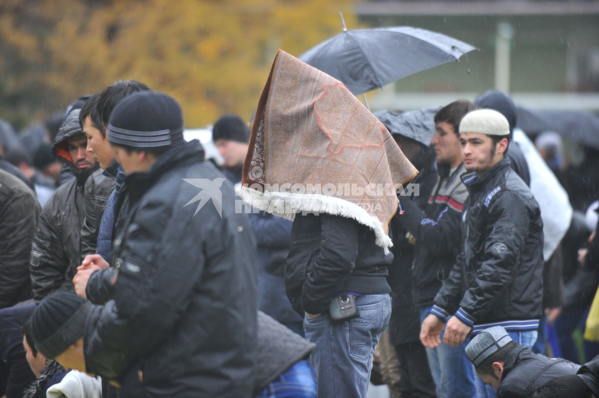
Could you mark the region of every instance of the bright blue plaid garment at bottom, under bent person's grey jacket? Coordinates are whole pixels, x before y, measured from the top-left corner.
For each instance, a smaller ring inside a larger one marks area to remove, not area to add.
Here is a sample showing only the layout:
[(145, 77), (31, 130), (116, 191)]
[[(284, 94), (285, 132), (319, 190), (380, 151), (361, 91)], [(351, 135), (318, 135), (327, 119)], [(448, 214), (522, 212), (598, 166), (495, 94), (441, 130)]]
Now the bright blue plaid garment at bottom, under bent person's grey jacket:
[(299, 361), (254, 398), (316, 398), (312, 367)]

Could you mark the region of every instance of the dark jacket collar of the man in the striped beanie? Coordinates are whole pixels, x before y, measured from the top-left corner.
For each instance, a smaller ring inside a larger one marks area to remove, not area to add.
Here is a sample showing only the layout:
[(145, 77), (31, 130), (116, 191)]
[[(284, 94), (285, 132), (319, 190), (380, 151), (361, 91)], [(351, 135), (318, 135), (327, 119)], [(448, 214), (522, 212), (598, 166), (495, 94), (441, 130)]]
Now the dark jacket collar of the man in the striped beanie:
[(199, 163), (204, 160), (204, 148), (194, 139), (174, 145), (158, 157), (147, 172), (133, 173), (125, 177), (131, 203), (137, 202), (158, 179), (174, 168)]

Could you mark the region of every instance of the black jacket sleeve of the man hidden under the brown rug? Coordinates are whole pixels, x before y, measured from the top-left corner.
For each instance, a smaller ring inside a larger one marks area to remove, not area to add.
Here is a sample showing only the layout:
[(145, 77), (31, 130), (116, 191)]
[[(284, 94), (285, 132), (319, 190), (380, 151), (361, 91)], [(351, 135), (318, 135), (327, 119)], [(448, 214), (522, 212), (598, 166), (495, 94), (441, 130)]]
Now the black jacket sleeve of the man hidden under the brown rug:
[(308, 269), (302, 287), (302, 307), (308, 314), (320, 314), (329, 308), (358, 257), (359, 226), (356, 221), (338, 215), (321, 214), (320, 253)]

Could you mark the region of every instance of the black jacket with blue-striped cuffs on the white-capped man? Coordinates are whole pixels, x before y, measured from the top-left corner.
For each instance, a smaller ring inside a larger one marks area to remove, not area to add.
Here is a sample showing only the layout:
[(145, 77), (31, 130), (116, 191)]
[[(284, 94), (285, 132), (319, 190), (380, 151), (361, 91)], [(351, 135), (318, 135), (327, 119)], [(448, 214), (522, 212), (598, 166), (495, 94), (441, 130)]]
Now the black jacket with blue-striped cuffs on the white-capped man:
[[(539, 204), (503, 159), (483, 177), (462, 175), (470, 196), (462, 247), (432, 313), (454, 314), (478, 333), (491, 326), (537, 330), (543, 297), (543, 221)], [(490, 323), (494, 323), (490, 325)]]

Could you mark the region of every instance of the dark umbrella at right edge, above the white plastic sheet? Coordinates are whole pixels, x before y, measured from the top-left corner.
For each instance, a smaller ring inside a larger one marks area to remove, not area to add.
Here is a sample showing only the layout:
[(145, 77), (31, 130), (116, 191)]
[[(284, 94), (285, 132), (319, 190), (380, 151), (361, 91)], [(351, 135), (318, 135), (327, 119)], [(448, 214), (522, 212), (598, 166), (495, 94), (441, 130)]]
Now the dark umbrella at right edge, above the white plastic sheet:
[(565, 139), (599, 149), (599, 117), (592, 113), (518, 107), (517, 114), (516, 126), (527, 134), (555, 131)]

